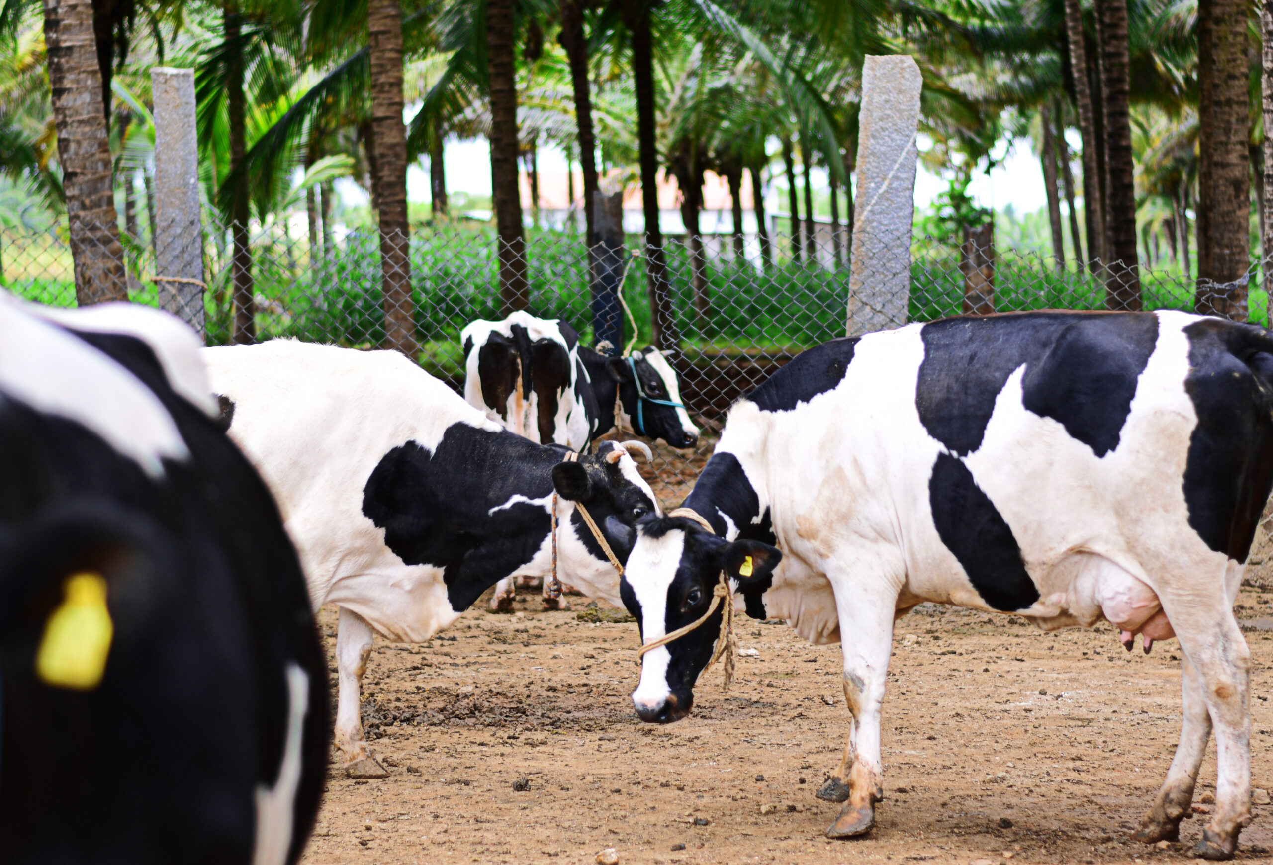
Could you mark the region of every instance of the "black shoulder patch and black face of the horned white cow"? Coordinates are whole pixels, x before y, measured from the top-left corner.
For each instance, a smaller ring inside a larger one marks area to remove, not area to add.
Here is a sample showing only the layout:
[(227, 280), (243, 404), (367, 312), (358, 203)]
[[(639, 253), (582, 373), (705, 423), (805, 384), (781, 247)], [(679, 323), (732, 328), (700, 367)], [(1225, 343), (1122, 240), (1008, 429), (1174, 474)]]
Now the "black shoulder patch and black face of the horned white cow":
[[(451, 606), (463, 611), (544, 544), (551, 528), (547, 508), (508, 502), (550, 496), (552, 467), (561, 459), (556, 446), (453, 424), (433, 452), (407, 441), (384, 454), (363, 488), (363, 514), (384, 529), (384, 544), (404, 564), (442, 567)], [(579, 462), (593, 481), (586, 504), (598, 525), (608, 516), (633, 525), (653, 508), (617, 466), (601, 455)], [(572, 522), (588, 552), (605, 561), (578, 511)], [(624, 538), (607, 541), (622, 546)]]

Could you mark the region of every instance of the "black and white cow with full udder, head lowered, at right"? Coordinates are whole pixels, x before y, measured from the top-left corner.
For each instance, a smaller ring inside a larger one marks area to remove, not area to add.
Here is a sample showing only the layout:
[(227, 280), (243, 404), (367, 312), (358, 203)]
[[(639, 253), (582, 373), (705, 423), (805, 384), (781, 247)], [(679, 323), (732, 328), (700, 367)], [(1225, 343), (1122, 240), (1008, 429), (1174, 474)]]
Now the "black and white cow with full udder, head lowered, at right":
[[(1209, 731), (1216, 813), (1250, 819), (1249, 653), (1232, 604), (1273, 481), (1273, 338), (1178, 312), (1025, 313), (911, 324), (799, 355), (740, 401), (684, 516), (638, 527), (624, 602), (651, 642), (703, 616), (724, 570), (754, 617), (839, 640), (849, 745), (830, 837), (882, 798), (894, 619), (929, 600), (1044, 630), (1105, 618), (1130, 647), (1176, 636), (1184, 720), (1136, 837), (1176, 837)], [(780, 551), (780, 552), (779, 552)], [(651, 650), (648, 721), (693, 706), (719, 628)]]

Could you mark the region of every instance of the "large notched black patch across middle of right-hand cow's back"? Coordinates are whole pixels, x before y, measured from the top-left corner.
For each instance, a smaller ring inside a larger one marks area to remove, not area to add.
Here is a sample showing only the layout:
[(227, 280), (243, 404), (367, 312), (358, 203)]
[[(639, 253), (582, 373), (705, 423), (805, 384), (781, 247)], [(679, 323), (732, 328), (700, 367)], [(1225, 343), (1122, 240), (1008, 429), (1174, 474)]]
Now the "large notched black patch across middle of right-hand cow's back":
[(919, 420), (956, 454), (981, 446), (994, 401), (1015, 370), (1025, 407), (1104, 457), (1118, 448), (1153, 354), (1152, 313), (1022, 313), (925, 324), (915, 385)]

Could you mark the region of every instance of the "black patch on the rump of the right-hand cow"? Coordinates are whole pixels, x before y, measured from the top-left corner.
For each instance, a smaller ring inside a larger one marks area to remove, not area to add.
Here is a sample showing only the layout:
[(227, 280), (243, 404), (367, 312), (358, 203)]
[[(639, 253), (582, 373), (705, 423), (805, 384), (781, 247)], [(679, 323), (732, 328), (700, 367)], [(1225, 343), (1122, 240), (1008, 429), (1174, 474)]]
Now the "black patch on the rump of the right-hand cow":
[(1245, 562), (1273, 485), (1273, 338), (1221, 319), (1185, 335), (1185, 392), (1198, 415), (1184, 476), (1189, 525), (1216, 552)]

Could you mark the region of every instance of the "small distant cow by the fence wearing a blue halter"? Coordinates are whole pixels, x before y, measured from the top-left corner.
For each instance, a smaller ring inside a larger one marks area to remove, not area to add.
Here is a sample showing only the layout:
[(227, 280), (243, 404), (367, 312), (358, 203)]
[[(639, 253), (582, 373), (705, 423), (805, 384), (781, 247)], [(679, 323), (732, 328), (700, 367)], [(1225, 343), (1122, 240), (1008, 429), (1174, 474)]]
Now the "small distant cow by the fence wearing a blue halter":
[(508, 430), (574, 450), (615, 427), (693, 448), (699, 429), (681, 405), (676, 370), (657, 349), (611, 357), (579, 345), (564, 319), (516, 312), (461, 332), (465, 399)]

